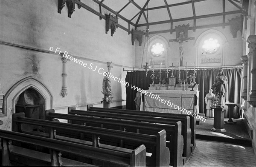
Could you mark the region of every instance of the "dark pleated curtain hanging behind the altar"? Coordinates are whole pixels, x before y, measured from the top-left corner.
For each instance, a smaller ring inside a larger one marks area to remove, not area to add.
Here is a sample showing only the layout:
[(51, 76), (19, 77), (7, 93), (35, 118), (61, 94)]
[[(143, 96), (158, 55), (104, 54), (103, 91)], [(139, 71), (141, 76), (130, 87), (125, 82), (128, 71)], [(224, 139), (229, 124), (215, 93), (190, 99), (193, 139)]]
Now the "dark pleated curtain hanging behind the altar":
[[(206, 113), (206, 104), (204, 102), (204, 97), (207, 93), (209, 93), (209, 88), (213, 85), (214, 80), (216, 76), (218, 75), (219, 68), (215, 69), (202, 69), (197, 70), (196, 72), (196, 79), (195, 81), (197, 84), (199, 84), (199, 113)], [(241, 68), (233, 68), (233, 69), (223, 69), (224, 74), (227, 76), (228, 79), (228, 86), (227, 86), (227, 99), (229, 102), (234, 103), (240, 103), (240, 88), (241, 88), (241, 75), (242, 70)], [(193, 71), (188, 71), (189, 74), (192, 74)], [(158, 84), (158, 78), (159, 78), (159, 71), (155, 71), (156, 78), (155, 84)], [(178, 78), (178, 70), (174, 71), (174, 75), (176, 78)], [(138, 86), (139, 88), (142, 88), (144, 90), (148, 90), (149, 84), (152, 83), (151, 80), (151, 71), (148, 71), (147, 77), (145, 76), (145, 71), (133, 71), (133, 72), (127, 72), (125, 81), (128, 82), (130, 85), (129, 87), (126, 87), (126, 108), (135, 110), (135, 96), (137, 93), (137, 90), (131, 89), (131, 84)], [(171, 76), (171, 72), (169, 72), (168, 77)], [(166, 71), (162, 71), (161, 78), (166, 78)], [(180, 78), (185, 79), (186, 78), (186, 71), (180, 70)], [(176, 79), (177, 80), (177, 79)], [(188, 79), (188, 83), (189, 79)], [(178, 81), (176, 82), (178, 84)], [(213, 93), (214, 89), (213, 89)], [(239, 118), (239, 108), (235, 107), (233, 112), (234, 118)]]

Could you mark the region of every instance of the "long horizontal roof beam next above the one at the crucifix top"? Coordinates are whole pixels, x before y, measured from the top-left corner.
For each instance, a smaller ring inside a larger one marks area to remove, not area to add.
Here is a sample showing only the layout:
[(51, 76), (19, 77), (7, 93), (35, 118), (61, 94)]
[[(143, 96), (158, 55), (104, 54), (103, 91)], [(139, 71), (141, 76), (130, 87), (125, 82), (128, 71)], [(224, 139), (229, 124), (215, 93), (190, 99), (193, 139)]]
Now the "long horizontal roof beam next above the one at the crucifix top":
[[(241, 13), (241, 11), (240, 10), (237, 10), (237, 11), (227, 11), (224, 14), (228, 15), (228, 14), (237, 14), (237, 13)], [(196, 16), (196, 17), (185, 17), (185, 18), (181, 18), (181, 19), (173, 19), (173, 20), (164, 20), (164, 21), (152, 22), (152, 23), (148, 23), (148, 24), (143, 23), (143, 24), (138, 24), (137, 27), (146, 26), (146, 25), (156, 25), (156, 24), (171, 23), (171, 22), (179, 22), (179, 21), (193, 20), (193, 19), (202, 19), (202, 18), (207, 18), (207, 17), (222, 16), (222, 15), (223, 15), (223, 12), (215, 13), (215, 14), (206, 14), (206, 15), (201, 15), (201, 16)]]

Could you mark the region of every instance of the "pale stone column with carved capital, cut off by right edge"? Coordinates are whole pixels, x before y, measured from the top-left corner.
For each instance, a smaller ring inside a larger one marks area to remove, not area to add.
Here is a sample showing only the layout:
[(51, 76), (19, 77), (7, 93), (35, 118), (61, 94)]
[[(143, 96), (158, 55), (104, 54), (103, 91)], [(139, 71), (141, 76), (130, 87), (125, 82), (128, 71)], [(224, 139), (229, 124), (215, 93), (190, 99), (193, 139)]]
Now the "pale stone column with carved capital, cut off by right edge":
[(252, 67), (251, 67), (251, 94), (250, 94), (250, 100), (248, 101), (250, 105), (253, 105), (253, 107), (256, 107), (256, 35), (250, 35), (247, 39), (248, 42), (248, 47), (250, 48), (250, 62), (252, 62)]

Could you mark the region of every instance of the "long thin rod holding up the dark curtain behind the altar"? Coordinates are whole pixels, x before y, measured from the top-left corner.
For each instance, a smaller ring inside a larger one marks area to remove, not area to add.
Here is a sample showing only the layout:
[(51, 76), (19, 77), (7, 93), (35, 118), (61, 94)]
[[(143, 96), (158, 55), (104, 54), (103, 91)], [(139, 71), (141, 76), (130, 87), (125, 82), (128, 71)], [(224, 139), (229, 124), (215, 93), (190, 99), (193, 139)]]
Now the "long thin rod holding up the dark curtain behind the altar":
[[(212, 66), (212, 67), (196, 67), (195, 69), (198, 70), (198, 69), (210, 69), (210, 68), (223, 68), (223, 69), (233, 69), (233, 68), (242, 68), (243, 66)], [(170, 70), (178, 70), (178, 67), (176, 68), (175, 66), (169, 66), (168, 67), (168, 71)], [(194, 68), (187, 68), (188, 70), (194, 70)], [(153, 70), (153, 69), (150, 69), (150, 70)], [(160, 70), (160, 68), (154, 68), (154, 70)], [(164, 68), (161, 68), (161, 70), (165, 71), (166, 70), (166, 67)], [(186, 70), (186, 67), (180, 67), (180, 70)], [(129, 70), (125, 70), (125, 68), (123, 68), (123, 71), (145, 71), (143, 68), (137, 68), (137, 69), (129, 69)]]

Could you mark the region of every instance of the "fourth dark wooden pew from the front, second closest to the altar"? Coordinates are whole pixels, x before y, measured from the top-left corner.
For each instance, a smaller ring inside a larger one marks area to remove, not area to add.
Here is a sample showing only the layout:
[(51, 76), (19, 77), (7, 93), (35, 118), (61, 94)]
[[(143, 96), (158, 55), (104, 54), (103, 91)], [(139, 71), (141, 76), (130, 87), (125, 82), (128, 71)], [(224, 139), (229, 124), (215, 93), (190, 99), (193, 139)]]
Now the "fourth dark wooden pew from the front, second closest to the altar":
[(151, 117), (151, 116), (138, 116), (138, 115), (129, 115), (127, 114), (119, 114), (119, 113), (107, 113), (101, 111), (85, 111), (85, 110), (76, 110), (75, 107), (68, 108), (68, 114), (73, 115), (83, 115), (83, 116), (97, 116), (97, 117), (105, 117), (105, 118), (113, 118), (113, 119), (122, 119), (122, 120), (132, 120), (138, 122), (151, 122), (151, 123), (160, 123), (166, 125), (175, 125), (176, 122), (182, 122), (182, 131), (183, 135), (183, 156), (186, 157), (185, 161), (189, 159), (191, 156), (191, 129), (190, 129), (190, 118), (186, 116), (185, 119), (168, 119), (163, 117)]

